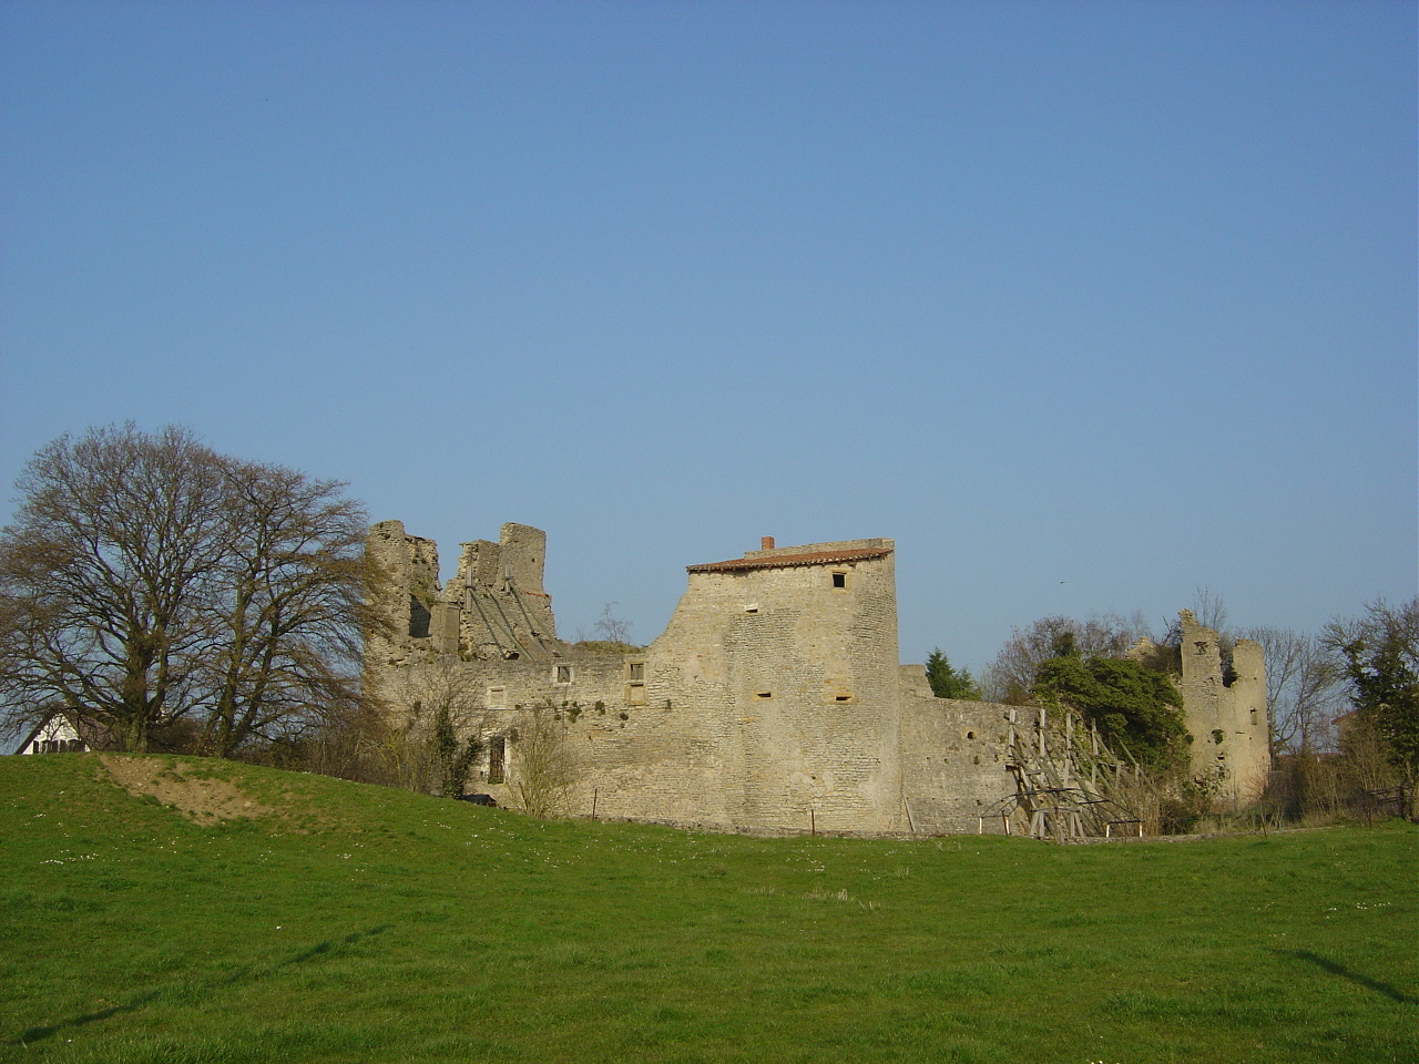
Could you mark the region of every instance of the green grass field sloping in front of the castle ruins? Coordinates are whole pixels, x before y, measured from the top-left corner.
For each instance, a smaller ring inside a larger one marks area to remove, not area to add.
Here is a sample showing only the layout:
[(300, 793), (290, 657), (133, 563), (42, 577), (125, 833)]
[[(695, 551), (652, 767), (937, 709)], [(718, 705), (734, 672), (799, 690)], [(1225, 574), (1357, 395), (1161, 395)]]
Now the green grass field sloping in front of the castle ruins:
[(1412, 826), (761, 840), (183, 762), (274, 811), (0, 759), (0, 1061), (1419, 1060)]

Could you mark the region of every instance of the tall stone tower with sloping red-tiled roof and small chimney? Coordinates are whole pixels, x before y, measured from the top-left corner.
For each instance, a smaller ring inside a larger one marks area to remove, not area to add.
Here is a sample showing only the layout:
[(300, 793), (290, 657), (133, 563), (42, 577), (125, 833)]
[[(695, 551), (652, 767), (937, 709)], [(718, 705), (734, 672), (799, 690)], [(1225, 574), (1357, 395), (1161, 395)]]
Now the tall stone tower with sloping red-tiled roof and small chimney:
[(759, 550), (688, 573), (650, 651), (658, 685), (712, 733), (728, 819), (898, 827), (893, 542), (775, 548), (765, 538)]

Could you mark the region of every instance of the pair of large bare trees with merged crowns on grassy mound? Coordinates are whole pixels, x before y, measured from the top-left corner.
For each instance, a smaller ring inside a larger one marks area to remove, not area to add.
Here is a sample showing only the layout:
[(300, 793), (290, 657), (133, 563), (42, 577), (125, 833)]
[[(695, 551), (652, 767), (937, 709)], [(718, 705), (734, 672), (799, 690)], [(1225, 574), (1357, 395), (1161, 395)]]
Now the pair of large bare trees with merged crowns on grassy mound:
[(143, 752), (190, 722), (230, 755), (348, 711), (370, 573), (341, 484), (216, 454), (189, 430), (41, 448), (0, 532), (0, 697)]

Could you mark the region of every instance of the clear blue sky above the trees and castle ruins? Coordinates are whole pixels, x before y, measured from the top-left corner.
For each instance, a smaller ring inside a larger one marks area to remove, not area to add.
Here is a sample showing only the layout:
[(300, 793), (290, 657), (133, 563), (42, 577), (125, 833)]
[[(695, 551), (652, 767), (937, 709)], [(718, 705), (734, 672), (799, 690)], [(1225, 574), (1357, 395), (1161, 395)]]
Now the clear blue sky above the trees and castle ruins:
[[(559, 630), (897, 541), (907, 661), (1416, 592), (1413, 3), (0, 0), (0, 481), (132, 419)], [(13, 494), (13, 492), (10, 492)], [(11, 502), (0, 516), (9, 518)]]

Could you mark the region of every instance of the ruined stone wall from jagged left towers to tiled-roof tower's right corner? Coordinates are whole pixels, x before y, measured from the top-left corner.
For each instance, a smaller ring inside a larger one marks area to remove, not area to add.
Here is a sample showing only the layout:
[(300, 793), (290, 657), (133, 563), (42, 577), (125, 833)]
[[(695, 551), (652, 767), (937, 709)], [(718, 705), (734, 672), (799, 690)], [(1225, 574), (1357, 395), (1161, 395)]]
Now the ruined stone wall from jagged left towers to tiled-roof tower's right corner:
[[(891, 541), (765, 545), (691, 566), (666, 631), (637, 653), (555, 640), (543, 548), (522, 525), (464, 545), (427, 636), (396, 593), (390, 614), (410, 634), (369, 648), (372, 694), (407, 712), (419, 691), (455, 682), (490, 739), (515, 729), (519, 706), (549, 706), (580, 759), (578, 803), (595, 797), (599, 814), (905, 830)], [(437, 576), (433, 545), (399, 522), (376, 525), (370, 550), (396, 584)], [(524, 611), (538, 596), (545, 606)], [(509, 780), (515, 758), (514, 742)], [(497, 794), (490, 767), (485, 755), (475, 785)]]

